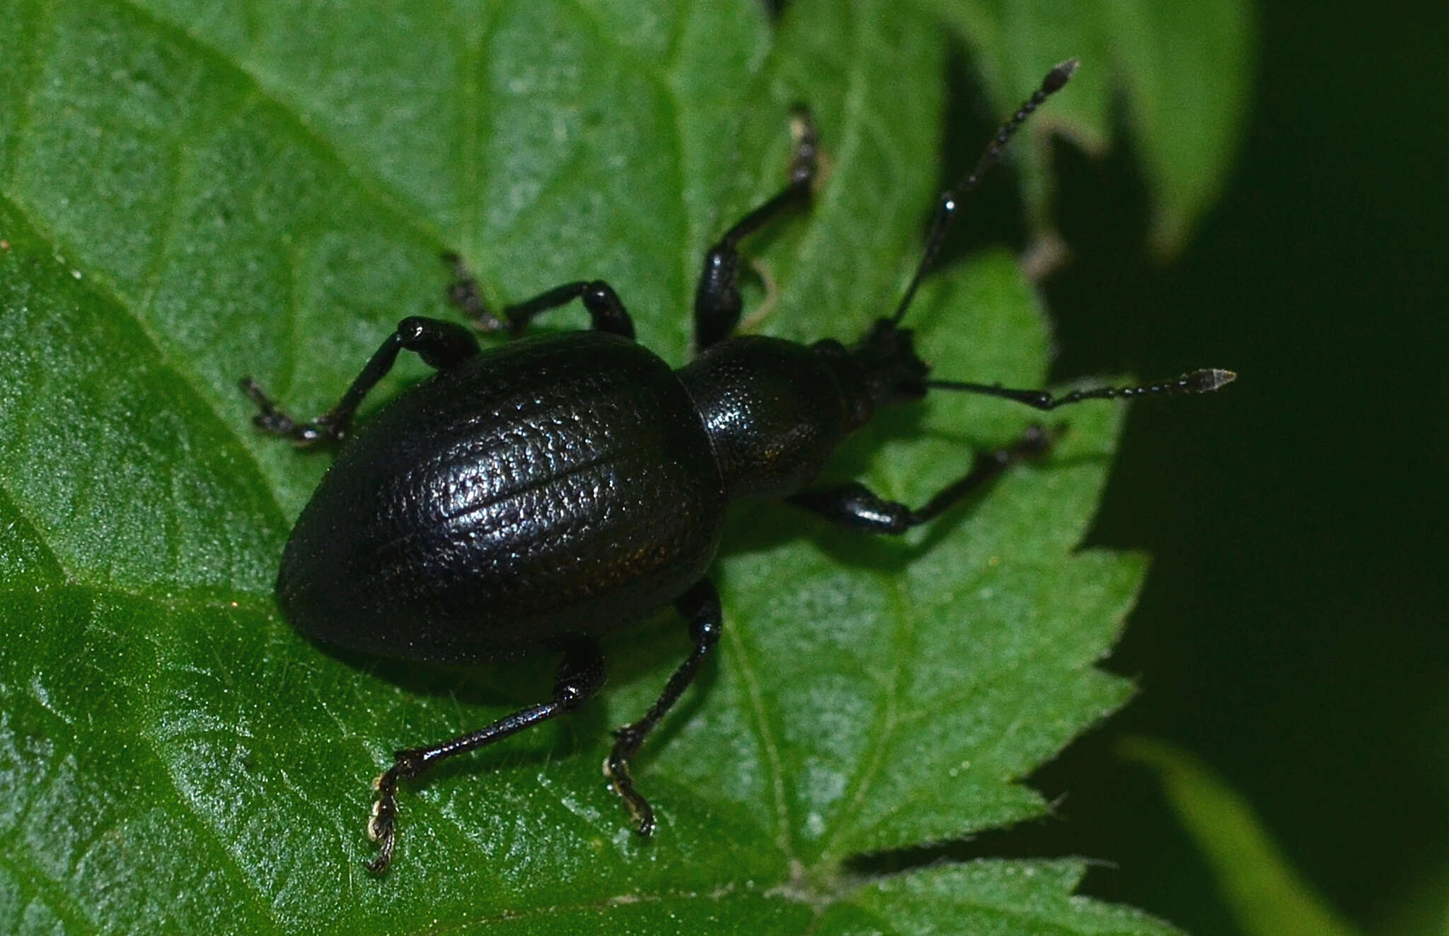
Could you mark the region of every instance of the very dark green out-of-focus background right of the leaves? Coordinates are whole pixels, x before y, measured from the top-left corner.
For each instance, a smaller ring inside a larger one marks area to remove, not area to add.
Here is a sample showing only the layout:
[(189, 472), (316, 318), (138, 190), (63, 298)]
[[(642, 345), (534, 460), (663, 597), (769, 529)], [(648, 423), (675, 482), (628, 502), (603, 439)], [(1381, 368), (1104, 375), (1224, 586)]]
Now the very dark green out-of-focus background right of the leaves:
[[(1094, 542), (1153, 571), (1110, 668), (1142, 695), (1036, 775), (1061, 820), (984, 851), (1111, 855), (1093, 894), (1233, 932), (1143, 733), (1206, 758), (1371, 932), (1449, 907), (1443, 3), (1265, 3), (1224, 197), (1156, 262), (1127, 148), (1058, 148), (1058, 377), (1222, 365), (1133, 407)], [(988, 200), (990, 201), (990, 200)], [(991, 207), (1009, 210), (1006, 203)]]

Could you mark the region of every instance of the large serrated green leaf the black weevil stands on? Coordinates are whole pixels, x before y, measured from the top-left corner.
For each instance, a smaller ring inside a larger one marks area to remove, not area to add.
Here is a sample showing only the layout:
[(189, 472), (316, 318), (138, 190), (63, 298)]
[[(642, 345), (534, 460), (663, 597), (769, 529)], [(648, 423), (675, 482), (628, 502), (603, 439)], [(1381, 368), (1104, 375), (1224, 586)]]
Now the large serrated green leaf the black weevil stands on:
[[(904, 542), (740, 507), (717, 667), (636, 762), (652, 842), (598, 764), (685, 651), (671, 616), (574, 719), (410, 784), (374, 879), (390, 752), (536, 701), (551, 661), (335, 656), (272, 604), (326, 458), (254, 433), (241, 375), (325, 409), (397, 319), (449, 314), (443, 249), (496, 301), (607, 278), (682, 362), (701, 252), (781, 184), (796, 100), (830, 171), (755, 245), (761, 327), (849, 339), (919, 249), (943, 54), (885, 0), (0, 6), (0, 930), (1161, 932), (1068, 897), (1078, 864), (848, 864), (1042, 814), (1020, 778), (1127, 697), (1093, 662), (1143, 564), (1077, 551), (1116, 407)], [(911, 323), (943, 375), (1043, 378), (1010, 256)], [(1029, 422), (942, 394), (833, 471), (919, 503)]]

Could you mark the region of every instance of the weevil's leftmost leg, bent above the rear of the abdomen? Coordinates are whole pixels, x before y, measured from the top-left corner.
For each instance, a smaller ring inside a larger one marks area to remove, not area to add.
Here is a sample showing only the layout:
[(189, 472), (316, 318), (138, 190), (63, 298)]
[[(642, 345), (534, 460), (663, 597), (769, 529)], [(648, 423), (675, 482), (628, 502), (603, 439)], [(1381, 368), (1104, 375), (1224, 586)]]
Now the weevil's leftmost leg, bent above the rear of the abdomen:
[(351, 427), (362, 398), (377, 385), (377, 381), (393, 369), (400, 351), (412, 351), (429, 367), (443, 371), (478, 354), (478, 340), (468, 329), (452, 322), (410, 316), (398, 322), (397, 330), (383, 340), (383, 346), (372, 354), (362, 372), (342, 394), (342, 400), (310, 423), (293, 419), (277, 409), (277, 404), (255, 380), (243, 377), (242, 393), (256, 404), (258, 410), (252, 422), (262, 432), (287, 436), (297, 445), (339, 442)]

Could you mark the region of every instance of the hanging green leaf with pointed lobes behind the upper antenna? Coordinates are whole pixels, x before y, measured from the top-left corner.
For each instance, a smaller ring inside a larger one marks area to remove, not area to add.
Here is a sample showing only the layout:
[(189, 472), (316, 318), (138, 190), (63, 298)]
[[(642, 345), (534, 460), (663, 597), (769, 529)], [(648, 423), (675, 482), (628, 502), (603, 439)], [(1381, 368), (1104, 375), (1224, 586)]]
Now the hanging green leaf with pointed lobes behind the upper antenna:
[(1227, 178), (1248, 112), (1253, 70), (1250, 0), (917, 0), (972, 54), (987, 97), (1009, 112), (1052, 62), (1078, 58), (1072, 93), (1027, 128), (1019, 148), (1037, 226), (1048, 225), (1046, 142), (1064, 133), (1101, 152), (1114, 99), (1142, 158), (1153, 200), (1152, 238), (1172, 251)]

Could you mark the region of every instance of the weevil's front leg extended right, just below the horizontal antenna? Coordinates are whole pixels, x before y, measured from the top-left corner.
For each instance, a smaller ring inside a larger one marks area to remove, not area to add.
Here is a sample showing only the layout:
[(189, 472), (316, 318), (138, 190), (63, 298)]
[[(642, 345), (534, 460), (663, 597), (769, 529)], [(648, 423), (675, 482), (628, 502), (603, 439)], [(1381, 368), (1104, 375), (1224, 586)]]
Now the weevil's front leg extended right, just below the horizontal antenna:
[(913, 526), (939, 517), (971, 494), (982, 490), (1013, 464), (1043, 455), (1051, 446), (1051, 435), (1040, 426), (1032, 426), (1011, 445), (994, 452), (980, 452), (971, 471), (948, 484), (923, 507), (914, 510), (900, 501), (880, 497), (858, 481), (801, 491), (788, 497), (787, 501), (853, 530), (904, 533)]

